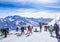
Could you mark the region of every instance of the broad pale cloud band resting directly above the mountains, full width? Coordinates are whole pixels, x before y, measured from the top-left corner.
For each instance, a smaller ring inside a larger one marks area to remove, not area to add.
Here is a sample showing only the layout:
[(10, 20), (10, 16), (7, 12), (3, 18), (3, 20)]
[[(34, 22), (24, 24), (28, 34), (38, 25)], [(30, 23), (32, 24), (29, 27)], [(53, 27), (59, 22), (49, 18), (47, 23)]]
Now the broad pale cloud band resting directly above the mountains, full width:
[[(29, 11), (28, 11), (29, 10)], [(4, 15), (5, 14), (5, 15)], [(55, 18), (60, 16), (60, 12), (56, 12), (56, 13), (51, 13), (48, 11), (36, 11), (34, 9), (19, 9), (16, 11), (11, 11), (11, 10), (2, 10), (2, 12), (0, 13), (0, 18), (4, 18), (6, 16), (13, 16), (13, 15), (19, 15), (22, 17), (28, 17), (28, 18)]]

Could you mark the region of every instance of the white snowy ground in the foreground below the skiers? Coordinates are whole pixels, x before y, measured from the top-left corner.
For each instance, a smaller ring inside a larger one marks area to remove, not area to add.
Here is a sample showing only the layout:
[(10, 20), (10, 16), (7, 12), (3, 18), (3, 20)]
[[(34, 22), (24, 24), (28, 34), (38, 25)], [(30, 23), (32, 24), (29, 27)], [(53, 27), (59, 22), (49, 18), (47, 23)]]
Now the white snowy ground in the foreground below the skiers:
[(0, 42), (60, 42), (59, 39), (50, 37), (48, 31), (33, 32), (33, 34), (28, 37), (26, 37), (25, 34), (22, 36), (17, 36), (17, 34), (20, 35), (20, 31), (11, 31), (7, 38), (0, 37)]

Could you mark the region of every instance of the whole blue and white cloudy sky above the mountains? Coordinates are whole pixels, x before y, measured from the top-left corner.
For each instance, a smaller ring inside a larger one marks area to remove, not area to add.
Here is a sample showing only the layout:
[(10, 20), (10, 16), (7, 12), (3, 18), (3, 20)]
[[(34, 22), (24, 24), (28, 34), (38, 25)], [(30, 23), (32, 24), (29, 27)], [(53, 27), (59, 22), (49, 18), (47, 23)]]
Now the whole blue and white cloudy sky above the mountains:
[(0, 0), (0, 18), (13, 15), (55, 18), (60, 16), (60, 0)]

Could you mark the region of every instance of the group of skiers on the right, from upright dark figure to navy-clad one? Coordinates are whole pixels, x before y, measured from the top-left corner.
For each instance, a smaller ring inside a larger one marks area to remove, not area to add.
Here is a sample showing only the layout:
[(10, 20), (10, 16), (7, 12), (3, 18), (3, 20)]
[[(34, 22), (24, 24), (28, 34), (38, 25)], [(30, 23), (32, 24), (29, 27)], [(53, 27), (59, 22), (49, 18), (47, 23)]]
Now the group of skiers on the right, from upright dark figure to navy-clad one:
[[(40, 27), (40, 32), (42, 31), (42, 23), (39, 22), (39, 27)], [(44, 31), (47, 31), (49, 30), (50, 32), (50, 36), (53, 36), (53, 31), (55, 31), (55, 34), (56, 34), (56, 38), (60, 38), (60, 35), (59, 35), (59, 25), (58, 23), (56, 22), (53, 26), (50, 25), (50, 26), (44, 26)]]

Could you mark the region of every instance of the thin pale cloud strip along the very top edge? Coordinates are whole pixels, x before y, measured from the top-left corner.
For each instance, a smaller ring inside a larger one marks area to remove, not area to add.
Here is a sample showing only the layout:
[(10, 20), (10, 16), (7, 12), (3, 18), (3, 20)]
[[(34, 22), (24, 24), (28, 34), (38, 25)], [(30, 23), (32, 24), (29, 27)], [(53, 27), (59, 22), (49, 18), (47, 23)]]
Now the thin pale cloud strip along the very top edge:
[(56, 2), (58, 0), (0, 0), (1, 2), (43, 2), (43, 3), (46, 3), (46, 2)]

